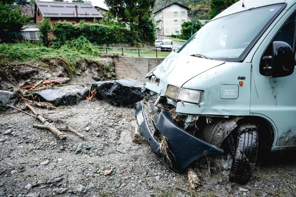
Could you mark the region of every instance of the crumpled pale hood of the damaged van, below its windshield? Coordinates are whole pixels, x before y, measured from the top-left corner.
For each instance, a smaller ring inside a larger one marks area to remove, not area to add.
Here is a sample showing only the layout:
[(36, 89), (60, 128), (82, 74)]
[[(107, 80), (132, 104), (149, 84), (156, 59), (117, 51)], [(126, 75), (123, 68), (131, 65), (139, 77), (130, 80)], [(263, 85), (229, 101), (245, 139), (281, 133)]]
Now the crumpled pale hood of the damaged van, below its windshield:
[(146, 77), (151, 75), (157, 76), (160, 78), (160, 86), (165, 89), (168, 84), (182, 87), (184, 83), (193, 77), (224, 63), (224, 61), (171, 52), (163, 62), (150, 71)]

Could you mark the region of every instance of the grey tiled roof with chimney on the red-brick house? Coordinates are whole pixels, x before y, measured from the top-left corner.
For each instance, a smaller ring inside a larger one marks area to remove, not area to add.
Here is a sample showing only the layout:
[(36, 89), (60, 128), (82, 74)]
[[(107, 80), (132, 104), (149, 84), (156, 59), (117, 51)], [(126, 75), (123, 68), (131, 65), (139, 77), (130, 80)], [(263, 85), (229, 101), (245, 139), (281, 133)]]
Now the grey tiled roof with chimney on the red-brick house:
[[(43, 17), (57, 18), (101, 18), (102, 15), (88, 3), (57, 1), (35, 1)], [(77, 6), (78, 16), (76, 16)]]

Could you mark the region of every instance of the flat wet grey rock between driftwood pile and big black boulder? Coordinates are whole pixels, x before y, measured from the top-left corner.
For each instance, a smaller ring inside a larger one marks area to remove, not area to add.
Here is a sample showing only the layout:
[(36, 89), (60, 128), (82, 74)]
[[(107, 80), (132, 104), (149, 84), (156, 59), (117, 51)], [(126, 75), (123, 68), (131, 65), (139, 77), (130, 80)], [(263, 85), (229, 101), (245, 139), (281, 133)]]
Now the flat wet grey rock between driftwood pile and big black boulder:
[(33, 97), (36, 96), (36, 99), (40, 100), (40, 102), (50, 102), (55, 106), (76, 105), (86, 98), (88, 92), (88, 87), (67, 85), (33, 92)]

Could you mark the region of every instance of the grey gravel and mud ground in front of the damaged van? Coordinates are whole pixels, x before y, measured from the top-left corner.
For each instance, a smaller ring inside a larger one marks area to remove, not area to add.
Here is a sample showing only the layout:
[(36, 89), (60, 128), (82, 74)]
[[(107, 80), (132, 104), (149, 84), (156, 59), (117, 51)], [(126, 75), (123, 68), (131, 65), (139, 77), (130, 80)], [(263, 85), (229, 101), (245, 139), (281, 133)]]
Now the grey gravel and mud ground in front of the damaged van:
[[(211, 174), (191, 190), (186, 174), (169, 170), (148, 145), (131, 143), (127, 124), (135, 119), (133, 109), (82, 101), (57, 110), (38, 110), (45, 118), (70, 123), (86, 138), (66, 133), (62, 141), (33, 128), (38, 121), (28, 115), (0, 114), (1, 197), (296, 196), (295, 152), (259, 154), (247, 185)], [(80, 143), (80, 153), (74, 154)]]

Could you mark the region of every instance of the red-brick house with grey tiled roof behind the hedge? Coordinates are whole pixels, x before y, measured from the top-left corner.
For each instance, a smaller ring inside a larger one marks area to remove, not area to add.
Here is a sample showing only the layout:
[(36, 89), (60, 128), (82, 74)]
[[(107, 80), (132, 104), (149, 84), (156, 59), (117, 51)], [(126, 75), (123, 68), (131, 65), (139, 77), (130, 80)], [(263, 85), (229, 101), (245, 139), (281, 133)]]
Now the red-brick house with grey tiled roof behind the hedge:
[(35, 1), (34, 23), (41, 22), (45, 17), (50, 18), (51, 24), (59, 20), (77, 24), (81, 20), (93, 23), (102, 15), (89, 3)]

